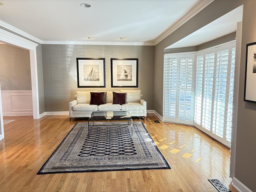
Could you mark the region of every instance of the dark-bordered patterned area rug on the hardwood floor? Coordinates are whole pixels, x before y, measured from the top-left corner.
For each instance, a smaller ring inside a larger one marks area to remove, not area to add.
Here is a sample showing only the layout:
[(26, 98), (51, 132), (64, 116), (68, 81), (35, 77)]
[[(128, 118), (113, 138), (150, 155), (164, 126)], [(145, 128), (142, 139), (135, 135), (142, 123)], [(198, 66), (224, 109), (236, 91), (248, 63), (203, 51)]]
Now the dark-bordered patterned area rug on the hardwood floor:
[(102, 124), (76, 123), (37, 174), (170, 169), (143, 122)]

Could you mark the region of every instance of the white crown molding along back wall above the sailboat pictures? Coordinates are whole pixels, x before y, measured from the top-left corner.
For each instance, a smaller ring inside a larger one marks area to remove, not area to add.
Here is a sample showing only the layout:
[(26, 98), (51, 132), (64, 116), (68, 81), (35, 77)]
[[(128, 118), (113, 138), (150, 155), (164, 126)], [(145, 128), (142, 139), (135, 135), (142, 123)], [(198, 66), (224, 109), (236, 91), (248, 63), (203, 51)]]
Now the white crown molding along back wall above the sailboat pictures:
[(135, 45), (135, 46), (154, 46), (154, 43), (153, 43), (153, 42), (42, 41), (42, 44), (57, 44), (57, 45)]

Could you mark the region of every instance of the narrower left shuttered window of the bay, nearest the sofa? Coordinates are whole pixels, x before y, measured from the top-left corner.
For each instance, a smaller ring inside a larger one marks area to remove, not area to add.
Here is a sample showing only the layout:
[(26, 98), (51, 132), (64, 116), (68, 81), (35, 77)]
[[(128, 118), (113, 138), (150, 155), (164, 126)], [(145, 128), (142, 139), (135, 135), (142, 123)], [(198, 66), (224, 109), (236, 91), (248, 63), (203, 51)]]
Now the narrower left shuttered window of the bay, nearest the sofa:
[(194, 54), (166, 54), (164, 65), (164, 120), (192, 124)]

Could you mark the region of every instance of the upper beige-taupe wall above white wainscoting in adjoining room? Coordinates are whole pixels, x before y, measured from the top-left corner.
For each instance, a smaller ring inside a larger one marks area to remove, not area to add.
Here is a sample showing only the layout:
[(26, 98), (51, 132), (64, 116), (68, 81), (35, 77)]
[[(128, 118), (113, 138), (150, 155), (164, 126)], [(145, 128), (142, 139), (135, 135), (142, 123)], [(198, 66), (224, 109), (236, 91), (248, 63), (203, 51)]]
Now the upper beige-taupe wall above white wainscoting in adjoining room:
[(1, 90), (32, 90), (28, 50), (0, 44)]

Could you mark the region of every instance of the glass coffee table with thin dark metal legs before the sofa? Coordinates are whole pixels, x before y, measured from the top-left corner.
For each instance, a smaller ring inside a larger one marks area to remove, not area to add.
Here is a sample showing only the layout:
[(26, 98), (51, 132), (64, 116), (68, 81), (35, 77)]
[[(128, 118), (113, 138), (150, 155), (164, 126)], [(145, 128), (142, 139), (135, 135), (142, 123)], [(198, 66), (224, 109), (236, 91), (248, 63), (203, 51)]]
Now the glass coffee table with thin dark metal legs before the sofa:
[[(106, 121), (111, 123), (101, 124)], [(94, 111), (88, 119), (88, 136), (90, 137), (90, 127), (92, 126), (120, 125), (118, 122), (130, 126), (132, 134), (132, 117), (128, 111)]]

